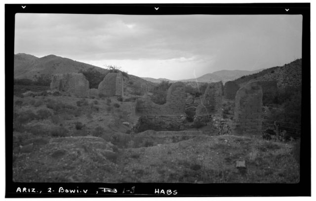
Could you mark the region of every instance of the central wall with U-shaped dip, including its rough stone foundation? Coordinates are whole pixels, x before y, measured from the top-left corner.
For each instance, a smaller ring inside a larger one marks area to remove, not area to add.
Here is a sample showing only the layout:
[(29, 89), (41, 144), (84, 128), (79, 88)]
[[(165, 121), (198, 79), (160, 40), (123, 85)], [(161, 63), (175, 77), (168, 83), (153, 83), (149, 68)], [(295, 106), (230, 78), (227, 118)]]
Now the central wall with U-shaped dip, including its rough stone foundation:
[(185, 84), (173, 83), (168, 91), (166, 103), (159, 105), (152, 100), (141, 98), (136, 100), (135, 110), (141, 115), (136, 132), (146, 130), (156, 131), (179, 131), (184, 130), (186, 93)]

